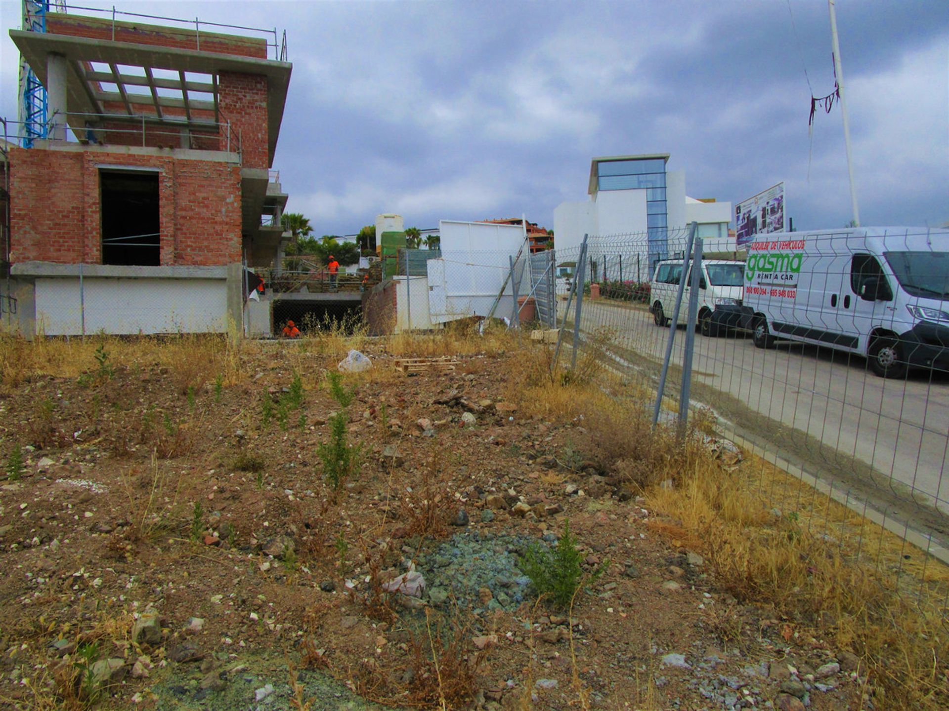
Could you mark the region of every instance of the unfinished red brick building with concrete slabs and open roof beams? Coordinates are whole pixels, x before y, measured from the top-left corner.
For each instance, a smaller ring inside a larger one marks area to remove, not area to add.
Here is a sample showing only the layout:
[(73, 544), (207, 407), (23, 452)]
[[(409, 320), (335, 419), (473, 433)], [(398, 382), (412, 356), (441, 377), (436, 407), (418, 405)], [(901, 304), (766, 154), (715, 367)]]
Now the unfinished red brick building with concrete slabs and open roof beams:
[(269, 266), (288, 238), (270, 168), (291, 65), (275, 33), (49, 12), (46, 31), (9, 36), (47, 89), (48, 129), (8, 151), (6, 325), (239, 329), (242, 264)]

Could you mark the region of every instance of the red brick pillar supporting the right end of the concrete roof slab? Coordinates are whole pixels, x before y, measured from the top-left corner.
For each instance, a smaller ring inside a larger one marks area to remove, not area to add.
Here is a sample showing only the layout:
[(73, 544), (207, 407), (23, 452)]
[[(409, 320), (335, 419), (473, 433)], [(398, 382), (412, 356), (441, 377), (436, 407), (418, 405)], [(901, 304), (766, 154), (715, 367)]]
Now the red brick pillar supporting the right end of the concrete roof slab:
[[(247, 168), (270, 168), (267, 133), (267, 77), (221, 72), (218, 75), (220, 121), (231, 121), (233, 137), (240, 136), (241, 159)], [(226, 146), (221, 127), (221, 149)]]

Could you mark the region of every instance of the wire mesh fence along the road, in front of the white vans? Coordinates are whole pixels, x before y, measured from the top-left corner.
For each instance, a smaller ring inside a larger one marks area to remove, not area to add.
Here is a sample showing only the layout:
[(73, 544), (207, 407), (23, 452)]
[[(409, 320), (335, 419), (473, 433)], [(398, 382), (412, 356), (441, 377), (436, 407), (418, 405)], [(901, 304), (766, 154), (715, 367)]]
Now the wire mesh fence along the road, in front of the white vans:
[[(799, 232), (712, 253), (694, 235), (558, 251), (575, 264), (561, 362), (600, 349), (656, 419), (708, 409), (763, 466), (949, 562), (949, 232)], [(775, 511), (813, 504), (760, 481)], [(863, 555), (879, 551), (865, 535)]]

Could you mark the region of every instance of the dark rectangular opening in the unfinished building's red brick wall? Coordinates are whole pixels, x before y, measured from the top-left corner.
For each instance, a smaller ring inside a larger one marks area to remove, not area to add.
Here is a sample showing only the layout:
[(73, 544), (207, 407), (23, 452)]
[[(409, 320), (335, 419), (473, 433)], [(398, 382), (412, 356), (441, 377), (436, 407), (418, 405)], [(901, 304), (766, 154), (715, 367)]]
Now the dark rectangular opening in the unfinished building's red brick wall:
[(160, 264), (158, 173), (102, 173), (102, 264)]

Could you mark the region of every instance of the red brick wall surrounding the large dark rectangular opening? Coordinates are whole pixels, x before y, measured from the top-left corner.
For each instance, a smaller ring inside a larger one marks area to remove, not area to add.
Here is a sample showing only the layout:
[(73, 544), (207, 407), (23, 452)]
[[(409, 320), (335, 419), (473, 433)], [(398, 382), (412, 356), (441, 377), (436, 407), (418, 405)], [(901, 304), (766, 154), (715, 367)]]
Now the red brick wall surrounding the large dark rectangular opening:
[(161, 169), (163, 265), (240, 261), (240, 167), (151, 155), (12, 149), (10, 262), (102, 262), (97, 164)]

